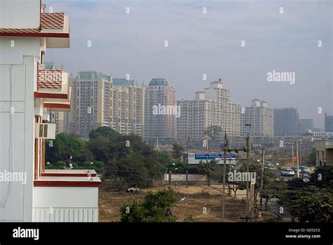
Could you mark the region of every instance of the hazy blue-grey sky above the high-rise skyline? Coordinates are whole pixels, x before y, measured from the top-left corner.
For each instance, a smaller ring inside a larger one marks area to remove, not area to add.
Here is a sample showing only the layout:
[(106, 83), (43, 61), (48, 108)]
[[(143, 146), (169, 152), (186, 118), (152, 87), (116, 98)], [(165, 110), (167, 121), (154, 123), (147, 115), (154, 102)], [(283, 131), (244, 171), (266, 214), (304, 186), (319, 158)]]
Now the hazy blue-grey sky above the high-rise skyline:
[[(221, 78), (244, 107), (252, 99), (296, 107), (320, 128), (324, 113), (333, 114), (332, 0), (43, 2), (46, 12), (70, 15), (70, 49), (48, 49), (44, 60), (74, 76), (165, 78), (177, 99)], [(269, 82), (273, 70), (294, 74), (294, 84)]]

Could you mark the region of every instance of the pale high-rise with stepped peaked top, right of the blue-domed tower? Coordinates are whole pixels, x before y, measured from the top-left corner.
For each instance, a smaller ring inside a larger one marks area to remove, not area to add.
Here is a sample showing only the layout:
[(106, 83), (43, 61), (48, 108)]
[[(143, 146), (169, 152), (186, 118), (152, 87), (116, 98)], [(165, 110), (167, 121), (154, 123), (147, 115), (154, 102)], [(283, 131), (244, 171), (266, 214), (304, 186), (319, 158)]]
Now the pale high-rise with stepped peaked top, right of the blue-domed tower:
[(240, 105), (232, 103), (222, 80), (211, 82), (194, 100), (177, 101), (181, 116), (176, 118), (176, 135), (182, 142), (203, 141), (209, 127), (220, 127), (230, 136), (240, 135)]

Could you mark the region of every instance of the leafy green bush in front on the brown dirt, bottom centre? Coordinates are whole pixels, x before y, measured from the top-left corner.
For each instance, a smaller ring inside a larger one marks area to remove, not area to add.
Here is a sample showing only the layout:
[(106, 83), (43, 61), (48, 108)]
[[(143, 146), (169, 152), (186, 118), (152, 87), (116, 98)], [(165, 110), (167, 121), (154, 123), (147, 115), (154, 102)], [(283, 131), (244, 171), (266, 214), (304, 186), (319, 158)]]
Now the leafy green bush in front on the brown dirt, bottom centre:
[(120, 208), (122, 222), (174, 222), (171, 208), (176, 203), (172, 189), (148, 191), (143, 201), (133, 199)]

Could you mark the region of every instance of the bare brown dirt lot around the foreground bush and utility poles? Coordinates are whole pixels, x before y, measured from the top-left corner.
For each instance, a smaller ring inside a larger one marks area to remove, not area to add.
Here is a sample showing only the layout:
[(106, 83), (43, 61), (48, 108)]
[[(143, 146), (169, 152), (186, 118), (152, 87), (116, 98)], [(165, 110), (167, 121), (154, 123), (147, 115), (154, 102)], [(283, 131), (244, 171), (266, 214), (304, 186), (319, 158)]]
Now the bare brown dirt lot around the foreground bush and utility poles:
[[(167, 188), (166, 186), (141, 189), (138, 194), (117, 193), (107, 191), (101, 187), (99, 190), (99, 221), (119, 222), (119, 208), (123, 203), (129, 203), (131, 199), (143, 199), (147, 191), (157, 191), (157, 189)], [(246, 204), (240, 199), (245, 196), (240, 191), (237, 199), (226, 198), (226, 219), (221, 218), (221, 186), (188, 186), (173, 184), (172, 189), (176, 193), (178, 202), (172, 209), (172, 214), (176, 216), (177, 222), (183, 222), (185, 217), (192, 215), (195, 222), (244, 222)], [(185, 199), (184, 199), (185, 198)], [(183, 201), (181, 201), (183, 199)], [(270, 219), (269, 214), (262, 213), (262, 218), (256, 219), (263, 222)]]

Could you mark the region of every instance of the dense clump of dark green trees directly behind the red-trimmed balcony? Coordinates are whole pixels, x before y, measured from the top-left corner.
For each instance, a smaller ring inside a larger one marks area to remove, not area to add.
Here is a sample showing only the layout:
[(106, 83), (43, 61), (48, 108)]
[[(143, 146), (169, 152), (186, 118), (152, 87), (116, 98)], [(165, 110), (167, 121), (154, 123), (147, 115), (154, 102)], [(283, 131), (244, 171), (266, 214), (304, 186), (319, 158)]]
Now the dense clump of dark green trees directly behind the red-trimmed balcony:
[(70, 156), (74, 169), (94, 169), (98, 173), (105, 170), (104, 180), (111, 180), (119, 189), (152, 186), (154, 181), (162, 180), (170, 162), (165, 152), (155, 151), (138, 135), (122, 135), (110, 127), (91, 130), (89, 142), (58, 134), (53, 142), (46, 144), (46, 161), (52, 163), (46, 168), (63, 169), (68, 166)]

